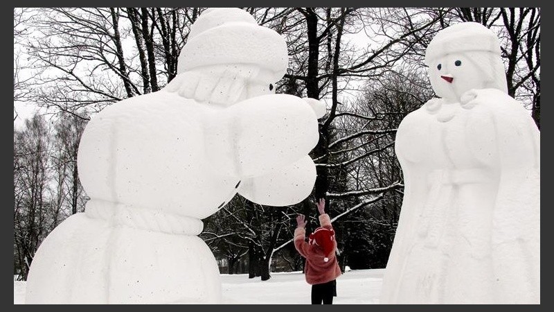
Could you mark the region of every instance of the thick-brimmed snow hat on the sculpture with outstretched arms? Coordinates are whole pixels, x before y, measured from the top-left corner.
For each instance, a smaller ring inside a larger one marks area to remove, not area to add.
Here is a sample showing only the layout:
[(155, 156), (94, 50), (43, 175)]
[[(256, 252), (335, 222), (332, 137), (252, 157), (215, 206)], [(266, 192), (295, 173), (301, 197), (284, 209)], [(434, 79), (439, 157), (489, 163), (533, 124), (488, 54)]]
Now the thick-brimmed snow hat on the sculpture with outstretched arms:
[(215, 64), (255, 64), (280, 80), (288, 67), (285, 39), (239, 8), (209, 8), (190, 26), (178, 73)]

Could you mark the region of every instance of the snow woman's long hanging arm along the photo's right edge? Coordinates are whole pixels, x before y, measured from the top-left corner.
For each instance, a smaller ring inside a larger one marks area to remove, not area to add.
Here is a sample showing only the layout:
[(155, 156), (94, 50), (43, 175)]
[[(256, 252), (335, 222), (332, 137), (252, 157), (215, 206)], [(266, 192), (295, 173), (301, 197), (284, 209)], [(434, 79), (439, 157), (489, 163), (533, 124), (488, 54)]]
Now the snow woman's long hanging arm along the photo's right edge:
[(521, 103), (508, 94), (481, 89), (472, 90), (471, 96), (467, 106), (484, 111), (494, 124), (497, 142), (500, 180), (493, 211), (492, 257), (497, 263), (494, 273), (500, 277), (499, 299), (536, 303), (540, 254), (530, 250), (540, 250), (539, 130)]

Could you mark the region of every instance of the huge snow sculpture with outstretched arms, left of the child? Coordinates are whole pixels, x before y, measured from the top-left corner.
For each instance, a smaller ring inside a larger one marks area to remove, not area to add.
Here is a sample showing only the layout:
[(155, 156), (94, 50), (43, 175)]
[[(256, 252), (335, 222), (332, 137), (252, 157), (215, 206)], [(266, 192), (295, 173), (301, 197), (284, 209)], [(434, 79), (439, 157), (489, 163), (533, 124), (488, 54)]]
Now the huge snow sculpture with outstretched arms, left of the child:
[(323, 104), (272, 94), (287, 62), (283, 37), (244, 10), (204, 11), (168, 86), (87, 125), (78, 166), (91, 200), (37, 250), (26, 303), (220, 302), (201, 219), (237, 192), (282, 206), (314, 186)]

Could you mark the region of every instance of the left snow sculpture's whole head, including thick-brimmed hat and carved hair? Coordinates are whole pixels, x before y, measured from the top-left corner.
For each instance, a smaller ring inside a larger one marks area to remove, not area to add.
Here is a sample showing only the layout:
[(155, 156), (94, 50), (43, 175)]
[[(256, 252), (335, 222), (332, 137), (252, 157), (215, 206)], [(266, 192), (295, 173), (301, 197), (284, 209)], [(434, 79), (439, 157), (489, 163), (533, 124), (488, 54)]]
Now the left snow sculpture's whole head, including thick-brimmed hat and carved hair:
[(287, 66), (287, 44), (278, 33), (259, 26), (244, 10), (211, 8), (190, 27), (177, 69), (184, 75), (168, 87), (200, 102), (227, 106), (275, 92), (274, 83)]

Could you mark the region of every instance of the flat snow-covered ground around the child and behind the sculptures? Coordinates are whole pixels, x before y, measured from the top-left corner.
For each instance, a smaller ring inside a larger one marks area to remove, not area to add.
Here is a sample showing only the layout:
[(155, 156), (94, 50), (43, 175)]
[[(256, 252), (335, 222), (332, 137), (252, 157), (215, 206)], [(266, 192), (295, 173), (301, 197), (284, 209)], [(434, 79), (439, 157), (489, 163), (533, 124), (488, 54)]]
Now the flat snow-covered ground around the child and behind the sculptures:
[[(348, 270), (337, 279), (333, 304), (378, 304), (384, 269)], [(221, 275), (224, 304), (310, 304), (302, 272), (271, 273), (269, 281)], [(14, 304), (25, 303), (25, 281), (14, 281)]]

